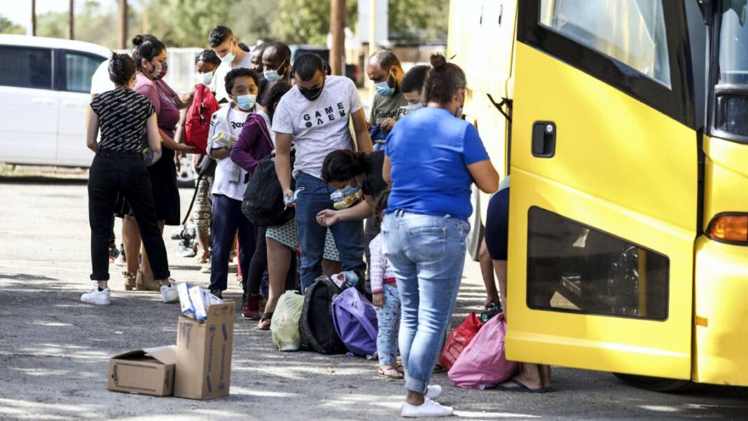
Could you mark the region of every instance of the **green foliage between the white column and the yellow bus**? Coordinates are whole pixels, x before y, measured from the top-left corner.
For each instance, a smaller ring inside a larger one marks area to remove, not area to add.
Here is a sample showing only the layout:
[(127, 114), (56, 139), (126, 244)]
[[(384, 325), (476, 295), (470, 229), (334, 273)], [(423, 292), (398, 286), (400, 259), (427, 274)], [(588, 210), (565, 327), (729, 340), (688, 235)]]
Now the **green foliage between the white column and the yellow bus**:
[(446, 42), (449, 14), (450, 0), (388, 0), (390, 39)]

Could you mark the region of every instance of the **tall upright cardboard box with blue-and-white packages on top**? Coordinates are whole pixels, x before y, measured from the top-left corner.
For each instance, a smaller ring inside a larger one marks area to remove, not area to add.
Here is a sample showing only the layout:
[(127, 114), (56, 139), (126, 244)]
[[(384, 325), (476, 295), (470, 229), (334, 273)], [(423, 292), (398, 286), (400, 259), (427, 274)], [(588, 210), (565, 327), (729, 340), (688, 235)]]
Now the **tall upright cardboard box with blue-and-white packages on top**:
[(229, 394), (234, 303), (214, 304), (204, 322), (180, 316), (174, 396), (213, 399)]

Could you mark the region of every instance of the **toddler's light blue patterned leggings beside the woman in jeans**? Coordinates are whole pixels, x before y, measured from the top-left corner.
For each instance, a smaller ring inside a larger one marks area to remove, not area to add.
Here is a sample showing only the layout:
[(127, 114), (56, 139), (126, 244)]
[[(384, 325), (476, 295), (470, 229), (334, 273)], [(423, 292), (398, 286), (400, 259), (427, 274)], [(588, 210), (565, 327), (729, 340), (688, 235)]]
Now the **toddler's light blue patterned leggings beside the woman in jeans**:
[(397, 360), (397, 335), (400, 329), (400, 293), (397, 286), (385, 283), (382, 286), (384, 307), (376, 309), (379, 330), (376, 336), (376, 353), (379, 365), (394, 364)]

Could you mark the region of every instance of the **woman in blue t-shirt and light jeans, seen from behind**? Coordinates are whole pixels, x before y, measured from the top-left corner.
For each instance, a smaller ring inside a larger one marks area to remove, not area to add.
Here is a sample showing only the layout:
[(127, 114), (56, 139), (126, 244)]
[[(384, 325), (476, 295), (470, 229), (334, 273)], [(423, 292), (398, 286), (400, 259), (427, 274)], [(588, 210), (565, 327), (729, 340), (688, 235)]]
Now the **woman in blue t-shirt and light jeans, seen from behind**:
[(473, 210), (470, 185), (493, 193), (499, 183), (477, 130), (458, 118), (465, 73), (442, 55), (432, 55), (431, 64), (423, 88), (427, 107), (403, 117), (387, 136), (382, 171), (392, 185), (383, 251), (402, 300), (403, 417), (453, 413), (432, 401), (441, 387), (429, 381), (462, 279)]

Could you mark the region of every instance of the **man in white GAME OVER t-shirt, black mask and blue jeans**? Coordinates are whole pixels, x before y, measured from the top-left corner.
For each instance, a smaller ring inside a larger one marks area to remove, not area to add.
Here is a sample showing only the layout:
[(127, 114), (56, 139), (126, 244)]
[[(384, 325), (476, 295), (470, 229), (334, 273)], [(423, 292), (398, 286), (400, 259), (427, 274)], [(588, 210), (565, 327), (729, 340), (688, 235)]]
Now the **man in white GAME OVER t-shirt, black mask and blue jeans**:
[[(296, 148), (293, 177), (298, 200), (296, 227), (301, 245), (301, 288), (306, 289), (322, 274), (322, 253), (328, 227), (316, 221), (319, 212), (331, 209), (330, 194), (336, 188), (322, 180), (322, 162), (333, 150), (351, 150), (353, 138), (361, 152), (372, 150), (367, 118), (355, 84), (343, 76), (325, 76), (322, 59), (304, 54), (294, 63), (295, 87), (278, 103), (273, 117), (275, 132), (275, 170), (286, 202), (294, 199), (291, 189), (291, 144)], [(358, 186), (359, 188), (361, 185)], [(364, 273), (364, 243), (361, 221), (340, 221), (329, 230), (340, 252), (343, 271), (357, 269)], [(363, 282), (363, 280), (361, 280)]]

